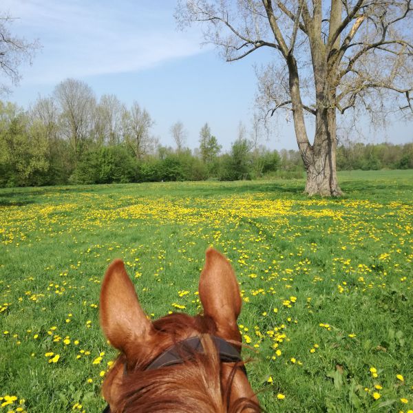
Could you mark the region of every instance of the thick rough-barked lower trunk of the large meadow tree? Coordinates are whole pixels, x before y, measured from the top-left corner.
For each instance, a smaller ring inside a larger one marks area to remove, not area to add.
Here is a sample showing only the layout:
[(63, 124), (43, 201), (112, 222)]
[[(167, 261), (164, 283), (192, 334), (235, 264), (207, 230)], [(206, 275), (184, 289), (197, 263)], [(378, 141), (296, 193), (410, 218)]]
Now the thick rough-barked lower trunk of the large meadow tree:
[(335, 108), (326, 108), (317, 113), (312, 162), (305, 162), (308, 195), (343, 195), (337, 181), (336, 148)]

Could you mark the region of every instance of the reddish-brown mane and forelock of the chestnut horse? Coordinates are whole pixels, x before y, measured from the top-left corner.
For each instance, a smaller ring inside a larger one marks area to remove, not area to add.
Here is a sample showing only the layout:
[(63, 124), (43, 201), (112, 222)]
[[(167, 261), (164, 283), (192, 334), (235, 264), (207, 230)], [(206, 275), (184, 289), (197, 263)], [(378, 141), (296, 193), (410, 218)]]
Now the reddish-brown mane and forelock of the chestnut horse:
[[(188, 324), (193, 324), (188, 326)], [(118, 412), (179, 412), (179, 413), (240, 413), (260, 412), (260, 407), (249, 399), (239, 399), (229, 410), (229, 396), (236, 367), (230, 375), (226, 392), (221, 385), (221, 362), (210, 334), (215, 332), (211, 320), (204, 317), (189, 317), (173, 314), (153, 322), (162, 332), (179, 334), (180, 326), (194, 327), (202, 332), (204, 353), (195, 353), (184, 363), (157, 370), (142, 370), (138, 361), (136, 368), (123, 377), (122, 394)], [(146, 360), (146, 363), (150, 360)], [(121, 354), (117, 363), (125, 363)], [(114, 369), (115, 370), (115, 369)], [(107, 381), (111, 381), (109, 372)]]

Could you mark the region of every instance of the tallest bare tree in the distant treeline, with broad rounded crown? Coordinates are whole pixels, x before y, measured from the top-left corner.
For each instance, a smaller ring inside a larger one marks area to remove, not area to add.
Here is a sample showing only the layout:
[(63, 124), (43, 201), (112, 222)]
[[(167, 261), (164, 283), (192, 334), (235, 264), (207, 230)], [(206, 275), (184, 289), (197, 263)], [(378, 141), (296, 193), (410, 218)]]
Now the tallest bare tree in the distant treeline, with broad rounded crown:
[(96, 107), (94, 92), (85, 82), (68, 78), (55, 87), (54, 96), (61, 105), (63, 131), (72, 145), (75, 160), (78, 160), (92, 134)]

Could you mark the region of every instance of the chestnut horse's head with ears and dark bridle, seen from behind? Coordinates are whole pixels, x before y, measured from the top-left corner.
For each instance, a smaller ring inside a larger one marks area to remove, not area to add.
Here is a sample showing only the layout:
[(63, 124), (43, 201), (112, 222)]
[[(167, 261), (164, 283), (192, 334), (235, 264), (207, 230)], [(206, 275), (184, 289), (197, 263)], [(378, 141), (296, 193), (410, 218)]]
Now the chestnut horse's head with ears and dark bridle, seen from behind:
[(123, 262), (107, 268), (100, 326), (120, 350), (103, 383), (105, 412), (260, 412), (240, 357), (240, 289), (213, 248), (199, 283), (203, 315), (145, 315)]

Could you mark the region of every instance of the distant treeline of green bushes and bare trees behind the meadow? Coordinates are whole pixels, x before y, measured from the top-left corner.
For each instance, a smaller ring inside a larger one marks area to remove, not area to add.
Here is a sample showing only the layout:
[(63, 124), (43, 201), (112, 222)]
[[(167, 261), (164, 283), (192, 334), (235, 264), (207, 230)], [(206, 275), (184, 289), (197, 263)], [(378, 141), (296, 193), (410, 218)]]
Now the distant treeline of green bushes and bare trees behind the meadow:
[[(272, 174), (301, 178), (298, 151), (260, 145), (254, 122), (222, 153), (207, 123), (198, 148), (186, 147), (184, 125), (171, 125), (174, 148), (151, 135), (153, 119), (138, 103), (126, 107), (114, 95), (96, 100), (85, 83), (61, 82), (52, 96), (28, 109), (0, 101), (0, 187), (171, 180), (241, 180)], [(412, 144), (339, 147), (339, 169), (413, 167)]]

